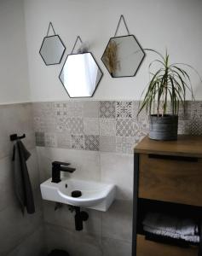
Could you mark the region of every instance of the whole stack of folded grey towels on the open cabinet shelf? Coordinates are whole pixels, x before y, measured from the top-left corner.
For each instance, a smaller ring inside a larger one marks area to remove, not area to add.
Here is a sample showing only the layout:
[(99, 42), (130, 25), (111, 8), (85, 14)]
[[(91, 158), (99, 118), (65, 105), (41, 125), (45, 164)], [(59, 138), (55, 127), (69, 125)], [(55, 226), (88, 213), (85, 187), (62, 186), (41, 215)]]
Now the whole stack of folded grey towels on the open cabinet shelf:
[(198, 225), (190, 218), (177, 218), (159, 212), (148, 212), (142, 224), (143, 230), (155, 235), (199, 242)]

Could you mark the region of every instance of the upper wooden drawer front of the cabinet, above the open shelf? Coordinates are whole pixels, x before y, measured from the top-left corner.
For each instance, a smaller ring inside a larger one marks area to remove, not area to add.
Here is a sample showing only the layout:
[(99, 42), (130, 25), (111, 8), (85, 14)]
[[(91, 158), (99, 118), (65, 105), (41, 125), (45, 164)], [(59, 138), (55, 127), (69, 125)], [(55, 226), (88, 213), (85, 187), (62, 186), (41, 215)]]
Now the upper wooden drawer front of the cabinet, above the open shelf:
[(202, 160), (140, 154), (139, 197), (202, 206)]

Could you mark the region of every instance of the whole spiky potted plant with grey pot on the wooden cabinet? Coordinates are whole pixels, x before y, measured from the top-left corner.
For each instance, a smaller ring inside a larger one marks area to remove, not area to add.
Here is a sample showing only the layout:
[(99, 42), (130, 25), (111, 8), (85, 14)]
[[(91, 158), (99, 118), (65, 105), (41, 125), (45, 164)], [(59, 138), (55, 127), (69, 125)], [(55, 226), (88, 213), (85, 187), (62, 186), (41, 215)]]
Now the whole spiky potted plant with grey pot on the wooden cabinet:
[[(155, 140), (176, 140), (178, 127), (179, 106), (185, 111), (186, 92), (189, 90), (193, 97), (193, 88), (190, 77), (182, 66), (197, 71), (188, 64), (170, 64), (167, 53), (161, 55), (154, 49), (146, 49), (159, 56), (149, 64), (150, 82), (142, 92), (143, 101), (140, 102), (139, 113), (146, 108), (149, 114), (149, 137)], [(153, 64), (158, 68), (152, 72)], [(199, 75), (199, 73), (197, 73)]]

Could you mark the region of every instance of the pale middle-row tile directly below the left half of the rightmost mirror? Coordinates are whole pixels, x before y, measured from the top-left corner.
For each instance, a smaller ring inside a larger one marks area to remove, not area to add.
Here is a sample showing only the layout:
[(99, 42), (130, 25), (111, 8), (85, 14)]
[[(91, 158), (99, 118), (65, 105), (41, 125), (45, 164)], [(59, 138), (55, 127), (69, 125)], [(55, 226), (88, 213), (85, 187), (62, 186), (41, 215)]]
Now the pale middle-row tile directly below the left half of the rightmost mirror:
[(100, 135), (115, 136), (116, 135), (116, 120), (115, 119), (100, 119)]

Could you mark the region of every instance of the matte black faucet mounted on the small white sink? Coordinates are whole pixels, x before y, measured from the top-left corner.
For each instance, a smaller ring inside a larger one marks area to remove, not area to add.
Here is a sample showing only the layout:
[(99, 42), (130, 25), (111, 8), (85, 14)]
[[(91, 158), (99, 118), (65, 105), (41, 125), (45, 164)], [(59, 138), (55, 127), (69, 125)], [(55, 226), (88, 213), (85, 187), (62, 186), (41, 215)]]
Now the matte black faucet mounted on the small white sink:
[(61, 182), (61, 171), (63, 172), (74, 172), (76, 169), (69, 166), (69, 163), (54, 161), (52, 162), (52, 183)]

